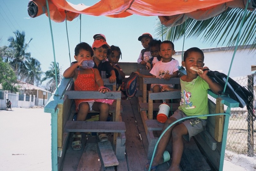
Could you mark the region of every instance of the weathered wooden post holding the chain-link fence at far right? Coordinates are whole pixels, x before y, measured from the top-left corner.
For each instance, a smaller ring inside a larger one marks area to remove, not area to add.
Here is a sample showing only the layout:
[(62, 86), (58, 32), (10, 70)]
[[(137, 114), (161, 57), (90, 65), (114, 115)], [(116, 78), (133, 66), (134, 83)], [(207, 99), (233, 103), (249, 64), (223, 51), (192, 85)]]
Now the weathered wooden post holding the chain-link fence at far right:
[[(253, 93), (253, 75), (248, 75), (248, 90)], [(249, 157), (253, 157), (253, 98), (251, 99), (250, 104), (247, 106), (247, 123), (248, 123), (248, 136), (247, 136), (247, 145), (248, 150), (247, 154)]]

